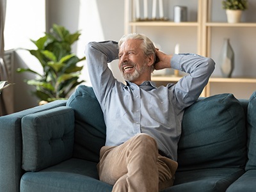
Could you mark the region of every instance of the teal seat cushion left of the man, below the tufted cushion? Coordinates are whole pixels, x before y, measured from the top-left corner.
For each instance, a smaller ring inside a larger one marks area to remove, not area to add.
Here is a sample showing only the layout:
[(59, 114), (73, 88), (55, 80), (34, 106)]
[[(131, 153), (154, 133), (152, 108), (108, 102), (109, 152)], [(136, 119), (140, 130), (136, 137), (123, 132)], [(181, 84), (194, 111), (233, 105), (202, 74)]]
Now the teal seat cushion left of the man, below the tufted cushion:
[(99, 180), (96, 166), (72, 158), (40, 172), (27, 172), (20, 180), (20, 192), (111, 191), (111, 185)]

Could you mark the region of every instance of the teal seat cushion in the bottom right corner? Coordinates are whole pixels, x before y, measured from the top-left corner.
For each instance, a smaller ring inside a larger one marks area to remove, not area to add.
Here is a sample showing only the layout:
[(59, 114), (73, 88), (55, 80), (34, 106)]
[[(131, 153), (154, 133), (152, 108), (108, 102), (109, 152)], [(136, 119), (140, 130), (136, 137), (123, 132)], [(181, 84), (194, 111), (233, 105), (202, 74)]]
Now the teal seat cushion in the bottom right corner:
[(237, 179), (233, 184), (231, 184), (227, 192), (254, 192), (255, 191), (255, 180), (256, 180), (256, 170), (249, 170), (244, 173), (239, 179)]

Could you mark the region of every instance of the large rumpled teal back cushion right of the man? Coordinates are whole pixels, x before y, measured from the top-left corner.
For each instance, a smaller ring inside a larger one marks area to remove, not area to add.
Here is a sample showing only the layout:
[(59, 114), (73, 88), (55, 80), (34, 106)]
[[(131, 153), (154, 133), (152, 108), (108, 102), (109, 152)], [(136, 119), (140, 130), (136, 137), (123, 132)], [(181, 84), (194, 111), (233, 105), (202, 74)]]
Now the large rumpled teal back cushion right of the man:
[(178, 163), (180, 171), (245, 165), (244, 111), (232, 94), (207, 97), (186, 109)]

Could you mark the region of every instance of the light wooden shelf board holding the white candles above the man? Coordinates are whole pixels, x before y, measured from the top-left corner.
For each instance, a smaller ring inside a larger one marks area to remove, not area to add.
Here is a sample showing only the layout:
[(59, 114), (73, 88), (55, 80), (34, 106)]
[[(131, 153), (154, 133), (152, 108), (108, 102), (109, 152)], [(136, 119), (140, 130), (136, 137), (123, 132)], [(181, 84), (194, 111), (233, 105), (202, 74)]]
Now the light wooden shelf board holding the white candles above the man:
[(198, 27), (198, 22), (171, 22), (171, 21), (138, 21), (129, 22), (129, 26), (161, 26), (161, 27)]

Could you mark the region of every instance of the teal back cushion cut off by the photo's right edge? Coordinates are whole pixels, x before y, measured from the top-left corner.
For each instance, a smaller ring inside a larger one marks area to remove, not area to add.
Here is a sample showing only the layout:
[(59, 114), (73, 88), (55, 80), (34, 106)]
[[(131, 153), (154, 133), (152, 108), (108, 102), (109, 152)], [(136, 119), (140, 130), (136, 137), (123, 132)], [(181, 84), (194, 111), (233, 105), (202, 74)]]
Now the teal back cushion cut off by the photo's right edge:
[(256, 169), (256, 92), (252, 94), (248, 104), (248, 162), (247, 170)]

